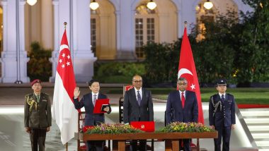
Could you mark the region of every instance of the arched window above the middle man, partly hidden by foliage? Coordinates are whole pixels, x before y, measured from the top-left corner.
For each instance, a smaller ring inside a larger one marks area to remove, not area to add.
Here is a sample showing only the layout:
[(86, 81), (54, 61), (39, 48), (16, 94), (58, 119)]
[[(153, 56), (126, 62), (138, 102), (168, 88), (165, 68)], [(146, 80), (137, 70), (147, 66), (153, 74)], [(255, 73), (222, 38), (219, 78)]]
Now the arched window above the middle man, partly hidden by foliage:
[(147, 42), (158, 40), (158, 21), (156, 8), (147, 8), (147, 2), (140, 4), (135, 12), (135, 53), (138, 59), (144, 59), (144, 52), (141, 47)]

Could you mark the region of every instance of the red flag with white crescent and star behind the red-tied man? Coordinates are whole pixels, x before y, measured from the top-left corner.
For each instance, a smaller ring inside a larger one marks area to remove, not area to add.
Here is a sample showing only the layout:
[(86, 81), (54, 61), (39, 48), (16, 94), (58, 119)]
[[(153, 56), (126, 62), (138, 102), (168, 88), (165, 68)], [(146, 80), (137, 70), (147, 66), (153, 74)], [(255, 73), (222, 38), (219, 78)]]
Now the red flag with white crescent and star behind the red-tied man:
[(198, 101), (198, 122), (204, 123), (200, 86), (196, 73), (195, 63), (193, 60), (193, 52), (190, 47), (186, 28), (184, 29), (183, 40), (181, 44), (181, 56), (178, 65), (178, 78), (180, 77), (186, 78), (188, 80), (188, 87), (186, 88), (186, 90), (190, 90), (196, 93)]

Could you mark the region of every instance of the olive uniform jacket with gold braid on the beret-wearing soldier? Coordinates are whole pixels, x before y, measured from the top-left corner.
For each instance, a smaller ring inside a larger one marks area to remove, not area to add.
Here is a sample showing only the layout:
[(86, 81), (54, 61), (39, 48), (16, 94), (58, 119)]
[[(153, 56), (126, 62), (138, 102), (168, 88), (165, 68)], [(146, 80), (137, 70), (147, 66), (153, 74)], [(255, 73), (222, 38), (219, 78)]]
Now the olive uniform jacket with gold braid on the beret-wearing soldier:
[[(33, 105), (31, 105), (32, 103)], [(52, 126), (52, 112), (49, 95), (41, 92), (39, 103), (34, 93), (25, 95), (24, 126), (30, 128), (47, 128)]]

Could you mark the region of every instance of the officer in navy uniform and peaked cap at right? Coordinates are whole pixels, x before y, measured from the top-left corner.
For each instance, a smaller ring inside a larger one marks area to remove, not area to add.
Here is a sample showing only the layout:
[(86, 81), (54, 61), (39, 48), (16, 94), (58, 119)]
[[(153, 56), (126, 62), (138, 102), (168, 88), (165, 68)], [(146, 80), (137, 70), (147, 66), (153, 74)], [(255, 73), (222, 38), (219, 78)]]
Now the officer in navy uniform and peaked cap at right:
[(218, 131), (218, 138), (214, 138), (214, 150), (229, 150), (231, 129), (234, 129), (235, 102), (234, 96), (226, 93), (227, 81), (220, 79), (217, 81), (218, 93), (210, 97), (209, 119), (210, 126)]

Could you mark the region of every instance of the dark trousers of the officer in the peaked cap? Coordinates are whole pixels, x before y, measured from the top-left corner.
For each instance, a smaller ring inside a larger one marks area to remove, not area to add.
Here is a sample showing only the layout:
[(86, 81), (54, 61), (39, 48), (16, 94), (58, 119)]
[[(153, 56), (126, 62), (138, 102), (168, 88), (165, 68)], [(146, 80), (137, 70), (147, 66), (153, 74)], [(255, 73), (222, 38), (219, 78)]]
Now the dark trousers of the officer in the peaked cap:
[(218, 138), (214, 138), (214, 150), (221, 151), (229, 151), (230, 146), (230, 138), (231, 138), (231, 126), (221, 126), (215, 127), (218, 132)]

